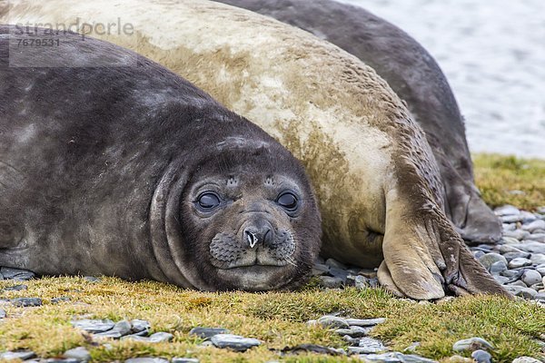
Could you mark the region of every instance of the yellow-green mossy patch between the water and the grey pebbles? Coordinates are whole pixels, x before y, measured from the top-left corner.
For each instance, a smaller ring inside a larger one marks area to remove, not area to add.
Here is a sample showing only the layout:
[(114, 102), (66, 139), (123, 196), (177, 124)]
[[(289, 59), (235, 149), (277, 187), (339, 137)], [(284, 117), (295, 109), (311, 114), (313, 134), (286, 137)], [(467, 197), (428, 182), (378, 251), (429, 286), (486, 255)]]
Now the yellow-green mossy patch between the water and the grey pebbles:
[(492, 207), (511, 204), (528, 211), (545, 206), (545, 160), (473, 155), (475, 182)]

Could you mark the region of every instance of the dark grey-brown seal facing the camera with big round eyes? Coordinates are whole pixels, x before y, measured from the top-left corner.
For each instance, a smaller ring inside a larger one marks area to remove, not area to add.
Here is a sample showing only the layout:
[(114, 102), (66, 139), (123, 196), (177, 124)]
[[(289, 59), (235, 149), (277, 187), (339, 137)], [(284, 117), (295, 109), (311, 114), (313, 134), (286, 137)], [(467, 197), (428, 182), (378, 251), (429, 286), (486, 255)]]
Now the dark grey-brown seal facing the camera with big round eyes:
[(34, 32), (0, 26), (0, 266), (205, 290), (301, 282), (321, 221), (290, 152), (159, 64), (44, 31), (58, 45), (17, 48)]

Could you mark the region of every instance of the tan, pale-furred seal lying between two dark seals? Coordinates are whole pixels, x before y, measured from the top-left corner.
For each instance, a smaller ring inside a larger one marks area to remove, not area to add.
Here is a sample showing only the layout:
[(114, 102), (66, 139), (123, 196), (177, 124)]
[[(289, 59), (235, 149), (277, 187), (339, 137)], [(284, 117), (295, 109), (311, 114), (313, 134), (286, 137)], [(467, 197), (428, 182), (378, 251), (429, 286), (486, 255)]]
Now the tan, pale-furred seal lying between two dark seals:
[[(4, 18), (22, 25), (88, 23), (84, 33), (98, 29), (92, 34), (150, 56), (261, 125), (311, 177), (324, 256), (380, 266), (381, 284), (413, 299), (504, 293), (447, 219), (424, 133), (388, 84), (351, 54), (263, 15), (206, 1), (10, 6)], [(104, 34), (116, 23), (132, 25), (134, 34)]]

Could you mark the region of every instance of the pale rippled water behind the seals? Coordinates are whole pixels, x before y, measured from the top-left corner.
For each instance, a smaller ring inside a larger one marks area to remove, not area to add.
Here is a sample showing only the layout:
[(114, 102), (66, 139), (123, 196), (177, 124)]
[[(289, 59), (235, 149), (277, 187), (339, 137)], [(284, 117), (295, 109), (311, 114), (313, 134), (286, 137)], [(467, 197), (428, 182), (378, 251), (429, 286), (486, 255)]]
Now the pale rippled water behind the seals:
[(545, 158), (545, 1), (343, 1), (400, 26), (435, 57), (472, 152)]

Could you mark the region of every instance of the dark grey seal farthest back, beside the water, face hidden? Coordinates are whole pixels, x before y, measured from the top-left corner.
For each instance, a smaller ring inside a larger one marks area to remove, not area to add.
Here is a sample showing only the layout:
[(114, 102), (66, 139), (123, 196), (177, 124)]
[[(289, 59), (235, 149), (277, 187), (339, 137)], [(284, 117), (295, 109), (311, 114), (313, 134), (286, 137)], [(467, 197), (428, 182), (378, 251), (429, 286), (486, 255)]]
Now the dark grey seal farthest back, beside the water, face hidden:
[(473, 182), (463, 119), (439, 65), (409, 34), (358, 6), (331, 0), (215, 0), (300, 27), (381, 75), (421, 125), (439, 164), (447, 216), (465, 240), (496, 241), (501, 223)]

